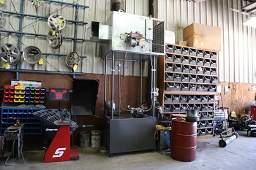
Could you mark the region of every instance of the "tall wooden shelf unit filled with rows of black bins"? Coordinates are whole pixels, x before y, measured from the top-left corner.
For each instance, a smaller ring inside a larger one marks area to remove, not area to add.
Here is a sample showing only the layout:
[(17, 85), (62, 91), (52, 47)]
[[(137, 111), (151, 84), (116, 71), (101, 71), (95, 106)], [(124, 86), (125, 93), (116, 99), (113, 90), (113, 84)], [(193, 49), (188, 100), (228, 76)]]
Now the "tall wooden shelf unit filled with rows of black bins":
[(165, 117), (197, 109), (197, 139), (214, 134), (214, 96), (217, 93), (217, 51), (166, 45), (157, 60), (159, 101)]

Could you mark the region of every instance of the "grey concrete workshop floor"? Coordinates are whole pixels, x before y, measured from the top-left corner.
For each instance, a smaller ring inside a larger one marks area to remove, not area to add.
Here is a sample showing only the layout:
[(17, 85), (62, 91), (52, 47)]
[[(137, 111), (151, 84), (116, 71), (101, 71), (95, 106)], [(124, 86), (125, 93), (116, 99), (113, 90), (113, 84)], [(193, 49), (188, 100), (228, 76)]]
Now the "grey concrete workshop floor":
[[(129, 170), (129, 169), (202, 169), (202, 170), (241, 170), (256, 169), (256, 137), (247, 137), (245, 131), (237, 131), (239, 136), (227, 147), (219, 147), (219, 135), (209, 139), (197, 140), (195, 161), (181, 162), (170, 158), (170, 152), (143, 151), (116, 154), (113, 158), (108, 153), (99, 152), (97, 147), (79, 148), (80, 160), (57, 163), (44, 163), (44, 150), (26, 150), (25, 163), (13, 160), (10, 166), (4, 166), (9, 155), (0, 158), (0, 169), (19, 170)], [(12, 162), (13, 161), (13, 162)]]

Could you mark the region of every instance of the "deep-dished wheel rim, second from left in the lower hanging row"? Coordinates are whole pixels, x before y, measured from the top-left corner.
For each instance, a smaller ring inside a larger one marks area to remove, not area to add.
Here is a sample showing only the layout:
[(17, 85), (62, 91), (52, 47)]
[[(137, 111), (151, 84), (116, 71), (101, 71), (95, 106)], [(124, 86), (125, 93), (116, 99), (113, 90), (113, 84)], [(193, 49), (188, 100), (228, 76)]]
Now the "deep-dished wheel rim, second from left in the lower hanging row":
[(28, 63), (38, 63), (42, 58), (41, 50), (35, 46), (26, 47), (23, 50), (22, 56), (24, 60)]

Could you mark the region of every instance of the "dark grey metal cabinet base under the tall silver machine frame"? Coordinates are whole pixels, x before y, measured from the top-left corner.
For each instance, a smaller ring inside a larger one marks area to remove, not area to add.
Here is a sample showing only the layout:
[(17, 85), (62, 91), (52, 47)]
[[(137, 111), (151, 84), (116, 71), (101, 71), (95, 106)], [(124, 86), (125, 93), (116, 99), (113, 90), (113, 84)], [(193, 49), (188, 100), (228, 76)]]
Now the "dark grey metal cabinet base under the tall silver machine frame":
[(140, 150), (155, 150), (157, 119), (104, 117), (103, 143), (110, 155), (121, 152), (135, 152)]

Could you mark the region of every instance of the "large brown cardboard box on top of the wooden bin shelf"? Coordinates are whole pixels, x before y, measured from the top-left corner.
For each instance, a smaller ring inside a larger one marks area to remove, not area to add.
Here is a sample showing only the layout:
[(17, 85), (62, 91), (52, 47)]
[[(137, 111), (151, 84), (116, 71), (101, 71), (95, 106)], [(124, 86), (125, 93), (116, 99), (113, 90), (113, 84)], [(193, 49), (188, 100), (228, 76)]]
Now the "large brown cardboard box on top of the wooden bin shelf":
[(184, 28), (184, 40), (187, 41), (189, 47), (219, 51), (221, 29), (217, 26), (192, 23)]

